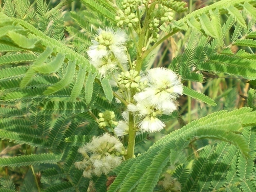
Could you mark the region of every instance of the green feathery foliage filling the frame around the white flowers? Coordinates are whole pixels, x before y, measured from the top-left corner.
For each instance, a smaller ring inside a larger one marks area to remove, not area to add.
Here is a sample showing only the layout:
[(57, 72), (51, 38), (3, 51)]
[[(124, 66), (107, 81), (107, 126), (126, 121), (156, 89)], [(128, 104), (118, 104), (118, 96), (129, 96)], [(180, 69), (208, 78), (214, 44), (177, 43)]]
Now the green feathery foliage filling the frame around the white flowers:
[[(0, 177), (0, 192), (256, 190), (255, 1), (222, 0), (195, 11), (189, 5), (190, 13), (180, 1), (60, 2), (6, 0), (0, 9), (0, 167), (6, 167), (0, 173), (22, 175)], [(153, 11), (158, 6), (172, 9), (168, 22)], [(121, 13), (126, 26), (119, 26)], [(108, 47), (118, 53), (108, 50), (111, 59), (122, 51), (127, 56), (127, 66), (119, 62), (114, 70), (137, 70), (143, 79), (146, 68), (166, 64), (186, 97), (174, 101), (179, 111), (159, 116), (166, 123), (159, 135), (137, 132), (147, 115), (130, 112), (129, 134), (119, 137), (126, 147), (122, 163), (106, 176), (85, 178), (74, 164), (84, 158), (78, 148), (104, 132), (115, 135), (115, 123), (99, 128), (99, 113), (113, 111), (111, 121), (120, 122), (147, 83), (119, 89), (118, 75), (97, 72), (92, 63), (100, 55), (90, 58), (87, 51), (99, 29), (127, 34), (124, 50), (118, 36), (116, 47)]]

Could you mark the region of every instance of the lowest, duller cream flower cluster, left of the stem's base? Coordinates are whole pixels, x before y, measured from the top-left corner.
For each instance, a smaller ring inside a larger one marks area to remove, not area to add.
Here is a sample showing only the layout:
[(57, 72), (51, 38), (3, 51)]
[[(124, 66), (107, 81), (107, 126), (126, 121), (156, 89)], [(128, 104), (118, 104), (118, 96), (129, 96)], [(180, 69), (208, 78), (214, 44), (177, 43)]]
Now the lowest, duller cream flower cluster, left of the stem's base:
[(105, 133), (101, 137), (93, 137), (92, 141), (80, 147), (78, 152), (84, 159), (75, 162), (76, 168), (84, 170), (83, 177), (92, 178), (94, 175), (106, 175), (121, 164), (124, 147), (117, 138)]

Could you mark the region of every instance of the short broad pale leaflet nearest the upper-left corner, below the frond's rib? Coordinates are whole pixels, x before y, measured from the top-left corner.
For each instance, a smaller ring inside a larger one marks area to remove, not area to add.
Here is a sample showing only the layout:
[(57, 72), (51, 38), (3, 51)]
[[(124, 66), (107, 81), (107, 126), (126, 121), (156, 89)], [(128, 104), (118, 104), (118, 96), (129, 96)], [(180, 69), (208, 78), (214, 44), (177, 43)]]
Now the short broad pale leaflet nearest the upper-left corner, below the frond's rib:
[(30, 39), (14, 31), (9, 31), (8, 36), (13, 40), (15, 44), (25, 49), (33, 49), (35, 47), (36, 42), (38, 41), (38, 39)]

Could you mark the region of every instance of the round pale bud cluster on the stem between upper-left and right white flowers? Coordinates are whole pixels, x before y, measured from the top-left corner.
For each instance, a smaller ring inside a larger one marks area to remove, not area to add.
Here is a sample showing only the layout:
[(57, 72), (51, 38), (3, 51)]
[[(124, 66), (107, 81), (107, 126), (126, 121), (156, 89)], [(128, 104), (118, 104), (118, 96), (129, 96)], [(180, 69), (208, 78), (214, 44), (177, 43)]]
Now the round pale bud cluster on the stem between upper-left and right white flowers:
[(140, 87), (141, 76), (139, 76), (138, 71), (130, 70), (126, 72), (122, 72), (118, 75), (118, 82), (120, 84), (121, 89), (138, 89)]

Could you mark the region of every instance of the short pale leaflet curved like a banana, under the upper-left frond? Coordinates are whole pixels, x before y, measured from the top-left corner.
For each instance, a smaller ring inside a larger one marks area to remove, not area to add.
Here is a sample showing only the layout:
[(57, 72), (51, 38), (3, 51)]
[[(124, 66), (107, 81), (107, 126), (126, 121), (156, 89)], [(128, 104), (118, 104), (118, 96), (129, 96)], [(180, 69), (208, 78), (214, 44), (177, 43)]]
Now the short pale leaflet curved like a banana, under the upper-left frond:
[(60, 68), (64, 59), (65, 59), (65, 55), (58, 53), (57, 56), (51, 62), (44, 63), (43, 65), (40, 65), (40, 66), (34, 66), (32, 68), (38, 73), (43, 73), (43, 74), (54, 73)]

